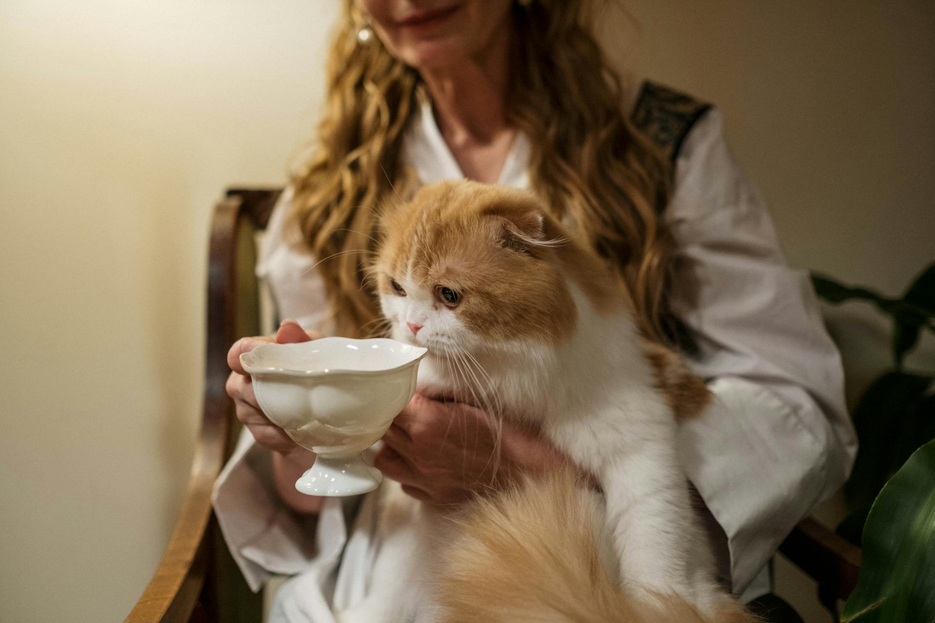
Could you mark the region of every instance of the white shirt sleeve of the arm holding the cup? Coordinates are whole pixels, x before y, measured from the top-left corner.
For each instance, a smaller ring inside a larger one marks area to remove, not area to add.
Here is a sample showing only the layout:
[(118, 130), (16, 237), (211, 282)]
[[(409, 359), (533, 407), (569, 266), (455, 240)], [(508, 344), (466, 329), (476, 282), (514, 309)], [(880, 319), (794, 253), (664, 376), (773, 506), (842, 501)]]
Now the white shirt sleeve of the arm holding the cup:
[[(315, 261), (292, 232), (293, 191), (287, 188), (273, 208), (259, 248), (256, 274), (269, 288), (280, 317), (305, 329), (329, 333), (324, 281)], [(326, 503), (319, 516), (302, 517), (282, 503), (273, 482), (269, 450), (243, 430), (237, 448), (214, 484), (211, 496), (224, 541), (247, 583), (258, 590), (271, 573), (299, 573), (324, 553), (337, 559), (345, 529), (339, 504)], [(333, 508), (334, 507), (334, 508)], [(336, 550), (337, 551), (332, 551)]]

